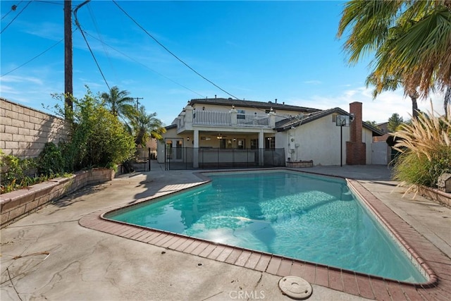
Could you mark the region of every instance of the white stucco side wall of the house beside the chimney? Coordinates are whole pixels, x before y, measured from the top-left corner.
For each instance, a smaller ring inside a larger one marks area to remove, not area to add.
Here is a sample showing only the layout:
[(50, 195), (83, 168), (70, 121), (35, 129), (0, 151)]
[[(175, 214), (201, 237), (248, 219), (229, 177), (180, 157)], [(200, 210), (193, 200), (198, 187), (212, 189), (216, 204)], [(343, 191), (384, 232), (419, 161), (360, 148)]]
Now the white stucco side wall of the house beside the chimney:
[[(346, 141), (350, 139), (350, 128), (343, 127), (342, 164), (346, 164)], [(295, 150), (290, 154), (288, 137), (295, 139)], [(340, 127), (332, 121), (332, 116), (325, 116), (316, 121), (301, 125), (295, 130), (288, 130), (283, 147), (287, 149), (287, 157), (292, 161), (313, 160), (314, 165), (340, 165)], [(277, 138), (276, 138), (277, 140)], [(296, 147), (298, 145), (298, 147)]]

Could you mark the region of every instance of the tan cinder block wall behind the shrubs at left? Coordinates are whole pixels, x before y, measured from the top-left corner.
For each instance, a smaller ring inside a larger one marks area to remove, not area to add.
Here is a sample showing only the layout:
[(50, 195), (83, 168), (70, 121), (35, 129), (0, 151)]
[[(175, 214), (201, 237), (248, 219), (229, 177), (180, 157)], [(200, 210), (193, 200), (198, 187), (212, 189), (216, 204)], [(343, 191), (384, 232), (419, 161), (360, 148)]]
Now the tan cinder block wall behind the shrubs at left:
[(46, 142), (67, 141), (63, 119), (0, 98), (0, 149), (21, 159), (39, 155)]

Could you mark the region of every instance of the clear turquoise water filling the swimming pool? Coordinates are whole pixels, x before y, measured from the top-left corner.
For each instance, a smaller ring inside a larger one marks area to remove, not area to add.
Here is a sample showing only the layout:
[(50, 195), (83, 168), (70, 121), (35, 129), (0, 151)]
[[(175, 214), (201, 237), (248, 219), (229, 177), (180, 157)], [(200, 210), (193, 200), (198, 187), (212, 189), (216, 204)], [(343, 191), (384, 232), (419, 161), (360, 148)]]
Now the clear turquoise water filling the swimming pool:
[(209, 177), (208, 185), (107, 218), (399, 281), (426, 281), (345, 180), (282, 171)]

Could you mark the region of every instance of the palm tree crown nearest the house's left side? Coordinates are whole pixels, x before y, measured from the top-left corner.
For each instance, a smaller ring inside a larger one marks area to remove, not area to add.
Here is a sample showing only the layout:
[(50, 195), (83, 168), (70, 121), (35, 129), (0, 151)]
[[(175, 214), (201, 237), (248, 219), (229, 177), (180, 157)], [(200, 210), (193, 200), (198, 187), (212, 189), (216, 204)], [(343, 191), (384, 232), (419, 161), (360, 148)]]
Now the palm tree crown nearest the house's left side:
[(135, 144), (145, 147), (149, 137), (156, 138), (158, 140), (163, 139), (163, 133), (166, 133), (166, 128), (163, 127), (163, 123), (155, 117), (156, 113), (146, 113), (144, 106), (140, 106), (137, 111), (137, 116), (132, 120), (132, 128), (135, 135)]

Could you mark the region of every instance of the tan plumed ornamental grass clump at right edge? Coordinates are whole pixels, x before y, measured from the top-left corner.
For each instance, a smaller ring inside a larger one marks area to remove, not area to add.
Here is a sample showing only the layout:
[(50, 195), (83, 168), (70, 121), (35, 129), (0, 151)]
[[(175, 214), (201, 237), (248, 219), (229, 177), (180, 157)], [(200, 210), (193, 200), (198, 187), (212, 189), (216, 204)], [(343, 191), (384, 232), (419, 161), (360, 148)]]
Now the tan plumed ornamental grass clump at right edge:
[[(451, 173), (451, 116), (437, 116), (433, 111), (421, 113), (412, 123), (392, 133), (401, 154), (394, 164), (394, 178), (401, 185), (409, 184), (409, 190), (418, 185), (435, 187), (442, 173)], [(409, 191), (407, 190), (407, 191)]]

